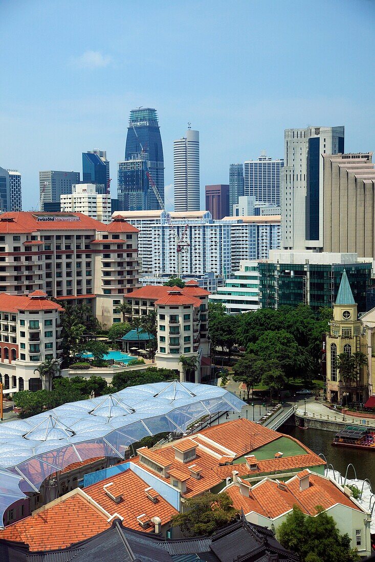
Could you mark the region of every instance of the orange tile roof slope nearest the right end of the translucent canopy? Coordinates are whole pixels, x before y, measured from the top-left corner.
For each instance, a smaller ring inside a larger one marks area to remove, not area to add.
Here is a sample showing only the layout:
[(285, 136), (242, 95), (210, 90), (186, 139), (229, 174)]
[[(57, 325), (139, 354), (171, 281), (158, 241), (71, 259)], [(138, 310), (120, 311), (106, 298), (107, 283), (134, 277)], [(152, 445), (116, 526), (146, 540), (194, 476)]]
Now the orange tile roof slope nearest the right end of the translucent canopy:
[(244, 418), (215, 425), (203, 429), (199, 433), (235, 452), (237, 457), (271, 443), (271, 441), (275, 441), (282, 436), (282, 433), (262, 427), (262, 425)]

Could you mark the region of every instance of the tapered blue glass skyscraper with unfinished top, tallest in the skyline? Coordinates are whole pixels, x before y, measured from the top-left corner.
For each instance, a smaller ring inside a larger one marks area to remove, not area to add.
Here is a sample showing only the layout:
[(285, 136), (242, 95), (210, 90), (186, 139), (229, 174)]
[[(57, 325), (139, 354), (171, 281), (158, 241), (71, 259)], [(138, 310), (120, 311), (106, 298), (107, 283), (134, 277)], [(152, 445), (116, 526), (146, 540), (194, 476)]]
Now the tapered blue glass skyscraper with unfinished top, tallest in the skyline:
[(118, 164), (118, 199), (127, 211), (160, 209), (150, 174), (164, 201), (164, 158), (158, 114), (154, 108), (131, 110), (125, 158)]

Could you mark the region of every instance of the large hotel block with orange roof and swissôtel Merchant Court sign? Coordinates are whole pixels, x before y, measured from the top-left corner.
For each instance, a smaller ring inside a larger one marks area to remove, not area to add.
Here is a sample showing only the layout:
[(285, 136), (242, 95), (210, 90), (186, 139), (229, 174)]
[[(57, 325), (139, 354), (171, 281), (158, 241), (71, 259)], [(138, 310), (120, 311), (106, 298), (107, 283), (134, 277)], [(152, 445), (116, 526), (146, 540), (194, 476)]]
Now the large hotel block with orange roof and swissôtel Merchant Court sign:
[(0, 215), (0, 292), (86, 303), (111, 325), (124, 295), (139, 287), (137, 234), (122, 219), (106, 225), (77, 212)]

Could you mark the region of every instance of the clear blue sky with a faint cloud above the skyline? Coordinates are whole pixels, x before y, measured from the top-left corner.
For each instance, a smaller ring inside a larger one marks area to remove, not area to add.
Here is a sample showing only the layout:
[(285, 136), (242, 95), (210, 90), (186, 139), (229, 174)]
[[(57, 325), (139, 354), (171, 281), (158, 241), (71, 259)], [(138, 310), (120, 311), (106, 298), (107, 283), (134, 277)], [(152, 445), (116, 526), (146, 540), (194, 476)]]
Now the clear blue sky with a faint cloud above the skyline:
[(345, 125), (346, 151), (374, 150), (374, 25), (374, 0), (0, 0), (0, 166), (28, 210), (39, 170), (82, 173), (99, 147), (115, 196), (137, 106), (158, 110), (170, 201), (188, 121), (202, 192), (231, 162), (282, 157), (285, 128)]

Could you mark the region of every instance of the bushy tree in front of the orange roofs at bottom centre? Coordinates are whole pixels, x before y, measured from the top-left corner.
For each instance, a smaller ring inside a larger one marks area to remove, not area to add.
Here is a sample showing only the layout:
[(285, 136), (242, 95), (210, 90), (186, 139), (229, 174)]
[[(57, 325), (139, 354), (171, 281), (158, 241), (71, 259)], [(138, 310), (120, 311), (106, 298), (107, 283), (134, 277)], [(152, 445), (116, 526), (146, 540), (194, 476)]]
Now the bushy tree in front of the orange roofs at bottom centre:
[(187, 499), (184, 512), (172, 517), (171, 526), (180, 527), (182, 532), (189, 535), (211, 535), (234, 522), (238, 513), (227, 493), (205, 492), (202, 496)]

